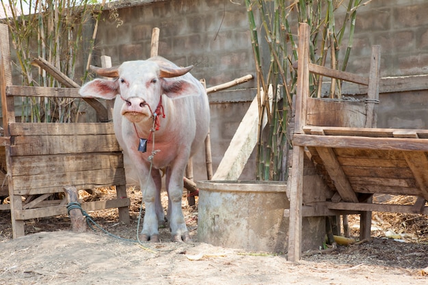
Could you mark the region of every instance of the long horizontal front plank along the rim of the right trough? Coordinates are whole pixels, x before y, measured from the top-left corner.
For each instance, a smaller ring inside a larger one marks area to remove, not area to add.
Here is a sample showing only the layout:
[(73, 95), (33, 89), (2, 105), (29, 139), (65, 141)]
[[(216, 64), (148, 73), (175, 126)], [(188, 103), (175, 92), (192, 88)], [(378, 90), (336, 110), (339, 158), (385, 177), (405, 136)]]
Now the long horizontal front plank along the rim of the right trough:
[(295, 134), (293, 136), (293, 144), (295, 146), (319, 146), (325, 148), (428, 151), (428, 140), (426, 139), (401, 139), (391, 137), (377, 138)]

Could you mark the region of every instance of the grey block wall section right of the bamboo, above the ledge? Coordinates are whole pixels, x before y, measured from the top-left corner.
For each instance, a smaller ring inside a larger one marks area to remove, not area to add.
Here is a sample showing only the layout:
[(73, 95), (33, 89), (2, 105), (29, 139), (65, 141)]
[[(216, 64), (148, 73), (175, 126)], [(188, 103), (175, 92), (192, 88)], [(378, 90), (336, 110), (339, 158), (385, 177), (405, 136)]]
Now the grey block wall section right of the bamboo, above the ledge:
[(428, 74), (427, 13), (425, 0), (375, 0), (359, 8), (348, 71), (367, 72), (371, 46), (379, 44), (382, 77)]

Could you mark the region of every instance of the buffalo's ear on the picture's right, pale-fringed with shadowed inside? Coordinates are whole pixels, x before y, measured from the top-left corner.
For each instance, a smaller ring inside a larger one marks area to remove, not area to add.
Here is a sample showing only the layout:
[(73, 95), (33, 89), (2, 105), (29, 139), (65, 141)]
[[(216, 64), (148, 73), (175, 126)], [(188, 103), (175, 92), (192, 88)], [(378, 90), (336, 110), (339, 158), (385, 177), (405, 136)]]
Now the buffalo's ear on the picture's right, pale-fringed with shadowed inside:
[(181, 79), (181, 80), (171, 80), (163, 79), (163, 93), (172, 98), (178, 99), (187, 96), (200, 96), (204, 91), (202, 84), (196, 85), (191, 81)]

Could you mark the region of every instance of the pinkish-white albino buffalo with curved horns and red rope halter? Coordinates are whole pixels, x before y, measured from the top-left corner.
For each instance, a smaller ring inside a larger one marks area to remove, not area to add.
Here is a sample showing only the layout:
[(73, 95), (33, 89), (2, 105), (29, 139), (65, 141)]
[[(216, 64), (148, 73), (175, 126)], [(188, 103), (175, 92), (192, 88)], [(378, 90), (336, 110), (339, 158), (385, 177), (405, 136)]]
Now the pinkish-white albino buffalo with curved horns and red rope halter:
[[(163, 57), (152, 57), (112, 68), (94, 68), (98, 75), (115, 79), (94, 79), (79, 91), (85, 97), (112, 99), (118, 95), (113, 124), (143, 191), (146, 213), (139, 235), (142, 241), (159, 241), (159, 223), (165, 223), (159, 171), (164, 167), (172, 239), (190, 239), (181, 209), (183, 175), (189, 157), (204, 142), (209, 128), (208, 97), (200, 81), (187, 73), (192, 67), (179, 68)], [(140, 146), (144, 143), (141, 139), (148, 139), (147, 152)]]

